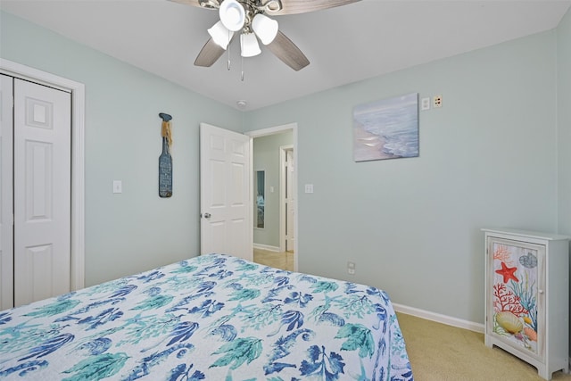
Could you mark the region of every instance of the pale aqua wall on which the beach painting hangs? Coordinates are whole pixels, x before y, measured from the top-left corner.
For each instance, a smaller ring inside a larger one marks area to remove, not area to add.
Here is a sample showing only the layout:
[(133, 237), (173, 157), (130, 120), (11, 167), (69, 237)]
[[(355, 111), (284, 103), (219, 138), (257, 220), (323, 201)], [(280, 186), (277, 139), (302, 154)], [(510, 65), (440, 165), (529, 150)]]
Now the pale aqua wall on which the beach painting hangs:
[[(556, 48), (550, 31), (249, 112), (298, 125), (299, 269), (483, 323), (480, 228), (557, 230)], [(413, 92), (443, 95), (420, 156), (353, 162), (352, 107)]]

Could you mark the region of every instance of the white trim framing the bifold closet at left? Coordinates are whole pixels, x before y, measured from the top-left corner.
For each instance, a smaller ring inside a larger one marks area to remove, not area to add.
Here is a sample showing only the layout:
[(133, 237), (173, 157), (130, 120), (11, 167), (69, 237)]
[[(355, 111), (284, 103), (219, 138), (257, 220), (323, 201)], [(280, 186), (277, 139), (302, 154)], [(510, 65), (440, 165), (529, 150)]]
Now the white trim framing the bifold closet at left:
[(85, 286), (85, 85), (0, 58), (0, 72), (71, 93), (71, 290)]

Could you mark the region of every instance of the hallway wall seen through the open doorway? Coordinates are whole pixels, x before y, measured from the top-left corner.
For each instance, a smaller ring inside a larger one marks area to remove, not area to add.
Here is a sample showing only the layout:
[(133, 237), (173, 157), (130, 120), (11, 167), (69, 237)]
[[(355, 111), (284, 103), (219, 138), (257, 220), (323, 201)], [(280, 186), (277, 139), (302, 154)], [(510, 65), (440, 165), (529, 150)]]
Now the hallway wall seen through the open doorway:
[(266, 171), (265, 227), (254, 228), (254, 244), (279, 247), (279, 147), (293, 144), (292, 131), (253, 139), (253, 170)]

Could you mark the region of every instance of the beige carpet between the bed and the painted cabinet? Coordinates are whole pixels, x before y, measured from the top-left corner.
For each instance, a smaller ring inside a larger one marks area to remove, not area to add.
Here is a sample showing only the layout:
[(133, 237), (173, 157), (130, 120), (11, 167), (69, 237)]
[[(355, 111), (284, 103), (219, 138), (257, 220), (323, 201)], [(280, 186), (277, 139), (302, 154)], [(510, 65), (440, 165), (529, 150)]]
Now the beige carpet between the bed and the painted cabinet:
[[(484, 334), (397, 313), (416, 381), (542, 380), (537, 369), (500, 348)], [(571, 380), (555, 372), (553, 380)]]

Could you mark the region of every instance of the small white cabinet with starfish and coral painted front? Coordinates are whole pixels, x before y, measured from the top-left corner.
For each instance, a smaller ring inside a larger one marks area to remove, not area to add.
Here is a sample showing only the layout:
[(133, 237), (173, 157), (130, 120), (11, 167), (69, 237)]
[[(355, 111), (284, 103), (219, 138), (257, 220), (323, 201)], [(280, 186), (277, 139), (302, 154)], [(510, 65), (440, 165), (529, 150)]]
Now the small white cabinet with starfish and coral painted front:
[(557, 236), (515, 229), (483, 229), (485, 329), (496, 345), (550, 379), (568, 372), (569, 243)]

